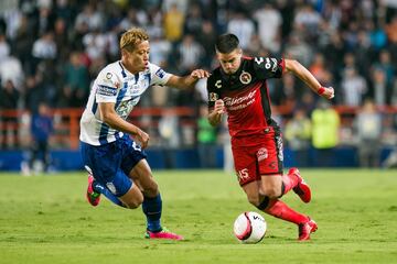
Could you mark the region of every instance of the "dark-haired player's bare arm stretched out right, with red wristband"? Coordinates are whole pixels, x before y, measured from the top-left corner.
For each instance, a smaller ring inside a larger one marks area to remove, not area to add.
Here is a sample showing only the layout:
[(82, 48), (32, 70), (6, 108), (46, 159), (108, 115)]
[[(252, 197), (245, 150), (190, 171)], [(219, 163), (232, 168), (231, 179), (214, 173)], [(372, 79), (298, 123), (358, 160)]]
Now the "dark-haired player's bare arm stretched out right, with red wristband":
[(287, 72), (291, 72), (293, 75), (298, 76), (315, 94), (326, 99), (332, 99), (334, 97), (334, 89), (332, 87), (321, 86), (320, 82), (315, 79), (315, 77), (298, 61), (286, 59), (285, 62)]

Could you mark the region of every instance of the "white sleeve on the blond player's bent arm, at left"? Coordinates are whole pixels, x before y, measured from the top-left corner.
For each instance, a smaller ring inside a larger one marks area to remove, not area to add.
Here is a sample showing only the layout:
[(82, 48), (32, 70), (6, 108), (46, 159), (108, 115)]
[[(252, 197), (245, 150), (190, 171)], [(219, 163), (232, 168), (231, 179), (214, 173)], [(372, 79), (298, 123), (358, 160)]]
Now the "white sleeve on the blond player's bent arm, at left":
[(95, 99), (97, 102), (116, 102), (121, 81), (111, 70), (103, 70), (96, 79), (97, 90)]

